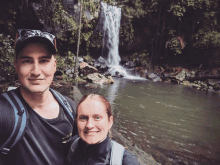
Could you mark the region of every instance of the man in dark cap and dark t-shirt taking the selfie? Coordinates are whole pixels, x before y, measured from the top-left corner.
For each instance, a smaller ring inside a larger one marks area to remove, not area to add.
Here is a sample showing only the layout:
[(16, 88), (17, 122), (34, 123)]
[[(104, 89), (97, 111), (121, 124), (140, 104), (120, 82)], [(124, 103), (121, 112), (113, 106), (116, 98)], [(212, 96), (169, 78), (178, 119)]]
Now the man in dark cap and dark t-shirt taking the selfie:
[[(49, 89), (56, 72), (55, 37), (39, 30), (18, 30), (15, 52), (14, 65), (21, 84), (15, 93), (25, 105), (29, 120), (18, 144), (7, 155), (0, 155), (0, 165), (62, 165), (68, 142), (76, 132), (73, 121)], [(75, 102), (65, 98), (75, 111)], [(1, 96), (0, 146), (13, 130), (13, 113)]]

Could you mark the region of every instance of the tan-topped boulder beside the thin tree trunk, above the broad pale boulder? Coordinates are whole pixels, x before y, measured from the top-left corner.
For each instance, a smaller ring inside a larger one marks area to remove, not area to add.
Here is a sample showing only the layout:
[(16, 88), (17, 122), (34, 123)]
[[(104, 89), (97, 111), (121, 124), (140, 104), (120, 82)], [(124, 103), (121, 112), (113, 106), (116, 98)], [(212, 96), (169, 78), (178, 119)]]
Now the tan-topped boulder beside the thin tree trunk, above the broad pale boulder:
[(81, 62), (79, 64), (79, 72), (82, 77), (87, 76), (88, 74), (97, 73), (98, 69), (89, 65), (86, 62)]

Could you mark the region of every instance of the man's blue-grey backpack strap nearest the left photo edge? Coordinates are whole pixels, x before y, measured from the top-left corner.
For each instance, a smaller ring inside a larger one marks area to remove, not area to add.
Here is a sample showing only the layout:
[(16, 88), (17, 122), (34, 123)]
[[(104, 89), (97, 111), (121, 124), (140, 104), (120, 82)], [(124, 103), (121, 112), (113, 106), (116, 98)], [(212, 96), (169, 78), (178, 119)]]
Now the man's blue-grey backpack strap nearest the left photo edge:
[(23, 137), (27, 125), (27, 112), (14, 90), (5, 92), (2, 96), (11, 104), (15, 115), (13, 131), (6, 142), (0, 147), (0, 153), (8, 154), (11, 148)]

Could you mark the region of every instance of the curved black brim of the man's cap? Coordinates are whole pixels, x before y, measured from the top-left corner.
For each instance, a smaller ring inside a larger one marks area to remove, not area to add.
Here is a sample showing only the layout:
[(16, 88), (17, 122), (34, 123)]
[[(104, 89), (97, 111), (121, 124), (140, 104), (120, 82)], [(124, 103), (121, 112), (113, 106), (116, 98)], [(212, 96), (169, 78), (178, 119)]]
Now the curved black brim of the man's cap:
[(15, 46), (16, 56), (29, 43), (42, 43), (47, 46), (51, 54), (56, 54), (56, 48), (49, 39), (41, 37), (41, 36), (34, 36), (34, 37), (26, 38), (26, 39), (20, 39), (17, 41), (16, 46)]

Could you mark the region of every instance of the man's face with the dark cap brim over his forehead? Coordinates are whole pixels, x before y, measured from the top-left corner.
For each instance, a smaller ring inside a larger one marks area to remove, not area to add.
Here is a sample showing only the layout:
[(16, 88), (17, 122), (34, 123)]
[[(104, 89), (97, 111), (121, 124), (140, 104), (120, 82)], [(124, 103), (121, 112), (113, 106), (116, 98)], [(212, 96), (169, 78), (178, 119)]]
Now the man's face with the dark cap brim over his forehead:
[(43, 44), (30, 43), (15, 59), (15, 70), (26, 93), (43, 93), (49, 89), (56, 72), (56, 59)]

